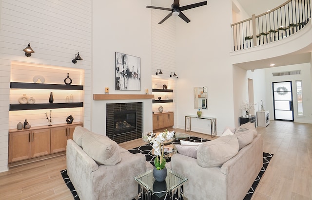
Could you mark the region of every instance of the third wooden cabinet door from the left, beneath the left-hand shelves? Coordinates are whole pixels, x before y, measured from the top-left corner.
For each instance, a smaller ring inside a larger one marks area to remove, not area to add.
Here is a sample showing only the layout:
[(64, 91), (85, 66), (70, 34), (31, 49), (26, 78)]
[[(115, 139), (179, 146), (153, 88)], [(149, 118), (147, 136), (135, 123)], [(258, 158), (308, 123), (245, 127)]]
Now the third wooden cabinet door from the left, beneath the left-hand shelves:
[(66, 151), (67, 135), (67, 127), (51, 128), (51, 153)]

